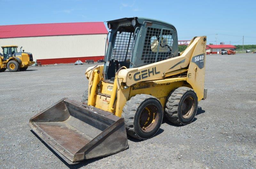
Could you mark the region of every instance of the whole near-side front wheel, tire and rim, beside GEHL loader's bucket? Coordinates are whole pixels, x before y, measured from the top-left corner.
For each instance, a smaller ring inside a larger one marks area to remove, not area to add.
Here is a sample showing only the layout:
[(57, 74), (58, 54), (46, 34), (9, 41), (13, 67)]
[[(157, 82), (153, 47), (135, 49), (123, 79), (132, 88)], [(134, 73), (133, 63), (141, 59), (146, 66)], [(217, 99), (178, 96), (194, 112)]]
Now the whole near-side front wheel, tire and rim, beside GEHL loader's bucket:
[(123, 108), (122, 117), (127, 134), (137, 139), (153, 137), (163, 121), (163, 109), (159, 100), (151, 95), (135, 95)]

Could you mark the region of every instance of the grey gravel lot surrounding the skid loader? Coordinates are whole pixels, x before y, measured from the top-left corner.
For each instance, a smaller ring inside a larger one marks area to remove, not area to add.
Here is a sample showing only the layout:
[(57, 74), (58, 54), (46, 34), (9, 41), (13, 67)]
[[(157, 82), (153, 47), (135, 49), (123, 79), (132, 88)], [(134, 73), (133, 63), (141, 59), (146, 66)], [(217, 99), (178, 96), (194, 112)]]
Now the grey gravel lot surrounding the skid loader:
[(56, 156), (28, 121), (63, 97), (80, 101), (88, 65), (6, 70), (0, 73), (0, 168), (255, 168), (255, 65), (255, 53), (207, 55), (207, 99), (199, 102), (193, 123), (164, 120), (155, 137), (129, 138), (129, 149), (78, 165)]

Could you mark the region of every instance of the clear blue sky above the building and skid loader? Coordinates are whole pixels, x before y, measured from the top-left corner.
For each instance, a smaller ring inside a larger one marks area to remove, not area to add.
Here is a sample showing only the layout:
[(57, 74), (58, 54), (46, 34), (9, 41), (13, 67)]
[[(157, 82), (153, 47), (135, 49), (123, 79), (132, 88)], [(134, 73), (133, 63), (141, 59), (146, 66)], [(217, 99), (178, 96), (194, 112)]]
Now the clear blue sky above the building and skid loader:
[(95, 22), (146, 17), (174, 25), (179, 40), (207, 36), (207, 44), (256, 44), (256, 1), (0, 0), (0, 25)]

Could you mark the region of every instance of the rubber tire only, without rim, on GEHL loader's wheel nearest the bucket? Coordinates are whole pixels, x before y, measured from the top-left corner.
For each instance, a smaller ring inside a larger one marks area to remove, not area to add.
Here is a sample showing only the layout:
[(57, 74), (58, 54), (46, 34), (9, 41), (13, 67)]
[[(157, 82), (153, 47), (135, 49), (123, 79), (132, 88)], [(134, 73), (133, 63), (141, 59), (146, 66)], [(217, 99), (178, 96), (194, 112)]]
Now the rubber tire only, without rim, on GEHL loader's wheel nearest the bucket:
[[(152, 130), (144, 132), (140, 127), (140, 114), (147, 105), (153, 105), (156, 107), (158, 119), (156, 121), (157, 124)], [(137, 139), (148, 139), (153, 137), (162, 124), (163, 116), (163, 108), (159, 100), (154, 96), (145, 94), (133, 96), (125, 103), (122, 112), (126, 133)]]

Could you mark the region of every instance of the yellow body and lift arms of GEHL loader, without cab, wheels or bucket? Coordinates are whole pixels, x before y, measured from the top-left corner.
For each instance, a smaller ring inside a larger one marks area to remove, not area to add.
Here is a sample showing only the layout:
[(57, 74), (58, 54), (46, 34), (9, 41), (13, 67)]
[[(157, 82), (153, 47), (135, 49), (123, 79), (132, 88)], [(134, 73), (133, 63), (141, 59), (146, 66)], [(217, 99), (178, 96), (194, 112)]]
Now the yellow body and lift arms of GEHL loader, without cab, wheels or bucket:
[[(138, 68), (120, 70), (116, 74), (114, 84), (104, 82), (103, 65), (89, 67), (85, 73), (89, 80), (88, 105), (121, 117), (125, 103), (132, 96), (137, 94), (155, 96), (164, 108), (169, 93), (174, 88), (182, 86), (194, 89), (198, 101), (204, 99), (206, 97), (204, 90), (205, 46), (205, 36), (195, 37), (178, 57)], [(195, 63), (197, 60), (203, 62), (202, 67)], [(180, 76), (183, 73), (186, 73), (185, 77)], [(142, 76), (146, 78), (142, 79)], [(97, 85), (100, 82), (100, 91), (97, 93)]]

